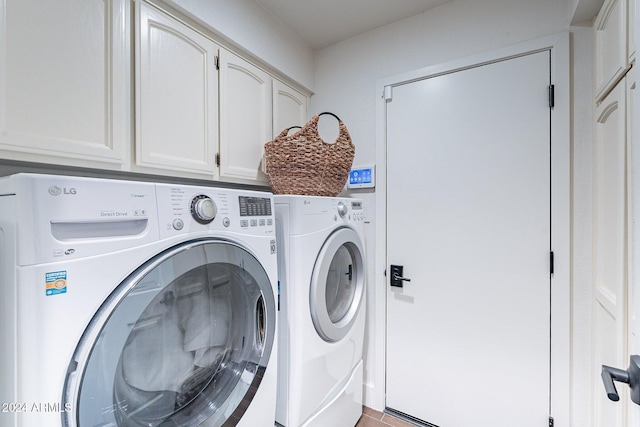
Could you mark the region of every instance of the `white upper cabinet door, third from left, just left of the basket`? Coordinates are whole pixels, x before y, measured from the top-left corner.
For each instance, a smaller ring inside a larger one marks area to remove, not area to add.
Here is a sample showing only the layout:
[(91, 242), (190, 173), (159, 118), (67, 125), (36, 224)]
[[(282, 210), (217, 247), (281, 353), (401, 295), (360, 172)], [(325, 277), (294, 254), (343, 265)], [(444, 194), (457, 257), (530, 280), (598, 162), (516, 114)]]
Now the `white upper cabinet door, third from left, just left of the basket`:
[(271, 76), (225, 50), (220, 73), (220, 177), (267, 183), (261, 161), (272, 139)]

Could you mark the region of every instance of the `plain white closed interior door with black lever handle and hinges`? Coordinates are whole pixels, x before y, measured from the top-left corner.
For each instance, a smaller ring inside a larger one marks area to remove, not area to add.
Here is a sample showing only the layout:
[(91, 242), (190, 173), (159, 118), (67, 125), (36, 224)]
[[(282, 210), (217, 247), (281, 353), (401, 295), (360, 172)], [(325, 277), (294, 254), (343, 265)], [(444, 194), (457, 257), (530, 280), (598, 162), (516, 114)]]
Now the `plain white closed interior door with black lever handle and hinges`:
[(543, 51), (393, 88), (387, 261), (411, 281), (388, 289), (391, 409), (548, 423), (549, 64)]

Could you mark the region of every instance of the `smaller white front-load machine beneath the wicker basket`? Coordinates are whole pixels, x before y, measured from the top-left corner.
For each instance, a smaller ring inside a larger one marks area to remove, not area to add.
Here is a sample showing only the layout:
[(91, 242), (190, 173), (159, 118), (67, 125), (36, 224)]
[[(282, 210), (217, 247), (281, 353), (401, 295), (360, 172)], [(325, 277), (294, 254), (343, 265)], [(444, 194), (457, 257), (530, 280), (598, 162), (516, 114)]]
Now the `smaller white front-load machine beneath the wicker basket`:
[(280, 285), (276, 421), (353, 427), (362, 415), (362, 201), (274, 196)]

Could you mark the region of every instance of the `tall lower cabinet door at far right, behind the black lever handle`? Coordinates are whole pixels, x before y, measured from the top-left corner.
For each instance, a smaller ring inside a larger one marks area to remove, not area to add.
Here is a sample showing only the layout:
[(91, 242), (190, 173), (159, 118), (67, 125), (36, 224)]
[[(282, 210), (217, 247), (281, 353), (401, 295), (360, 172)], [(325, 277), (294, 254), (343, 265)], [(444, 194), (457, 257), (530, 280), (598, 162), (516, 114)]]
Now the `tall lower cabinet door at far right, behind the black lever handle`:
[(597, 107), (593, 148), (592, 410), (596, 426), (624, 426), (628, 387), (620, 402), (607, 399), (602, 365), (626, 369), (627, 358), (627, 177), (625, 83)]

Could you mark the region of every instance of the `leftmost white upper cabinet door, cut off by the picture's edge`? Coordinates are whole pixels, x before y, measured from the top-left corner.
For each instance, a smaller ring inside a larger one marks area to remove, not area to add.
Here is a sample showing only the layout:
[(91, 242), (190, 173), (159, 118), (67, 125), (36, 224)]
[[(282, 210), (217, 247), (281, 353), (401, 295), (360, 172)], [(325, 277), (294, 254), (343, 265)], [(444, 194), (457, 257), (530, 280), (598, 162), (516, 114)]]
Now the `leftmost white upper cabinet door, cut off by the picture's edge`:
[(2, 157), (126, 163), (129, 10), (130, 0), (0, 2)]

